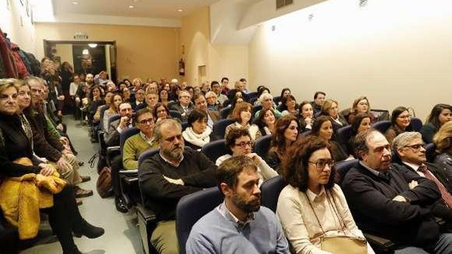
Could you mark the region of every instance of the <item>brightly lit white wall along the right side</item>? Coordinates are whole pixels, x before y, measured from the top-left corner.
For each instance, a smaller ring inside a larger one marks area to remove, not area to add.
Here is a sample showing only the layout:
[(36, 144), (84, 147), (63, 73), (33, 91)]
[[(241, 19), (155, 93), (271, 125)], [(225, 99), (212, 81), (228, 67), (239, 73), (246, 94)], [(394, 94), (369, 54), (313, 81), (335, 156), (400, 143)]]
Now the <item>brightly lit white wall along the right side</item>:
[(451, 104), (452, 2), (358, 2), (330, 0), (260, 25), (248, 50), (252, 86), (288, 86), (297, 100), (323, 90), (342, 108), (367, 95), (372, 108), (412, 106), (423, 121), (434, 104)]

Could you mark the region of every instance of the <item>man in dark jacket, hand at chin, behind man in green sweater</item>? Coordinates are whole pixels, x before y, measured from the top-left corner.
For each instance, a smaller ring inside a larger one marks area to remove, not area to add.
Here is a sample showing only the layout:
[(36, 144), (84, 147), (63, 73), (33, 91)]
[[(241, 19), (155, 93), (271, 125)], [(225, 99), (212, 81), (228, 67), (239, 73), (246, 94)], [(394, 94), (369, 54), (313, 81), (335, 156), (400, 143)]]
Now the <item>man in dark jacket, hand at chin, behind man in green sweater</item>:
[(119, 105), (120, 119), (113, 121), (108, 126), (108, 133), (106, 133), (105, 143), (107, 146), (119, 146), (119, 135), (126, 129), (134, 126), (132, 118), (133, 110), (130, 103), (123, 102)]

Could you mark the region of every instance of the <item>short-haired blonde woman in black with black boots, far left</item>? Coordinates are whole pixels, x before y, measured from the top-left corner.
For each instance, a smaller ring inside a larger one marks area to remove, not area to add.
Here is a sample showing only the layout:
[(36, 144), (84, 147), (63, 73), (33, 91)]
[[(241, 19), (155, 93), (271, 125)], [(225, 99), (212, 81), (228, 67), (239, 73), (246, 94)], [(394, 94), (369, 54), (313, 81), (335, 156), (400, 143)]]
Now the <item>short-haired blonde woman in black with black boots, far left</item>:
[[(20, 178), (29, 173), (36, 174), (37, 178), (53, 175), (53, 167), (35, 160), (33, 156), (31, 128), (25, 118), (17, 114), (18, 95), (14, 82), (11, 79), (0, 80), (0, 178)], [(24, 97), (30, 99), (29, 91)], [(18, 161), (28, 161), (31, 165)], [(88, 238), (98, 238), (104, 234), (103, 228), (92, 226), (82, 218), (70, 186), (54, 194), (53, 206), (42, 211), (48, 214), (50, 226), (64, 253), (81, 253), (73, 241), (72, 233)]]

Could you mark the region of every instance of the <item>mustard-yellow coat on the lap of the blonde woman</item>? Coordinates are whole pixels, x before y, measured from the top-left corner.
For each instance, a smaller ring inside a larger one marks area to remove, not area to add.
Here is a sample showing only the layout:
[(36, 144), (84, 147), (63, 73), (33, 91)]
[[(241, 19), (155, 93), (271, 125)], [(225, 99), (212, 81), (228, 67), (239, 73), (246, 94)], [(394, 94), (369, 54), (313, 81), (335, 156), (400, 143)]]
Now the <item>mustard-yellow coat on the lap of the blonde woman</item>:
[[(31, 166), (28, 158), (14, 163)], [(21, 240), (36, 237), (41, 224), (39, 209), (53, 206), (53, 194), (63, 190), (66, 182), (53, 175), (24, 174), (22, 177), (4, 178), (0, 183), (0, 207), (5, 219), (17, 227)]]

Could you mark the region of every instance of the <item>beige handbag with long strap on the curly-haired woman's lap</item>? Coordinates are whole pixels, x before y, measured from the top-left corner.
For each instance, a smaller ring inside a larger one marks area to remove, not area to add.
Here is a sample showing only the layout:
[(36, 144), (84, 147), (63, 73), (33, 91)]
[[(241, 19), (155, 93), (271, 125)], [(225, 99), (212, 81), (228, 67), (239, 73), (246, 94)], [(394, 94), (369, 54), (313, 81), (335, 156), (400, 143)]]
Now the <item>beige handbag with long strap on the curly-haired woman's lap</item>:
[[(330, 201), (330, 197), (333, 200), (334, 205)], [(344, 228), (347, 228), (347, 225), (345, 224), (343, 218), (339, 216), (340, 214), (337, 211), (337, 205), (336, 201), (332, 197), (329, 190), (326, 190), (325, 192), (327, 196), (328, 204), (331, 206), (332, 210), (334, 211), (333, 216), (335, 216), (339, 220), (339, 224), (341, 224), (341, 231), (345, 233)], [(306, 192), (305, 192), (306, 195)], [(320, 243), (321, 243), (321, 249), (324, 251), (328, 251), (334, 254), (367, 254), (367, 241), (365, 238), (357, 238), (353, 236), (326, 236), (325, 230), (322, 227), (322, 224), (320, 223), (320, 220), (317, 217), (317, 214), (315, 213), (314, 208), (312, 207), (311, 201), (309, 200), (308, 196), (306, 195), (306, 198), (309, 201), (309, 205), (311, 206), (312, 212), (315, 215), (315, 219), (317, 219), (318, 225), (322, 229), (323, 236), (320, 237)]]

